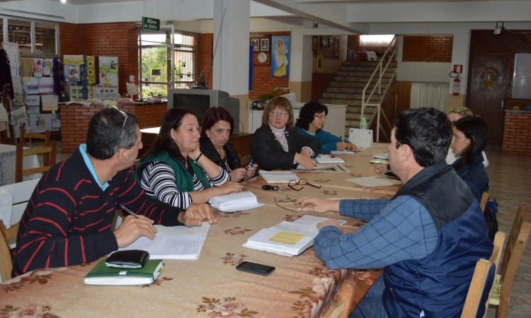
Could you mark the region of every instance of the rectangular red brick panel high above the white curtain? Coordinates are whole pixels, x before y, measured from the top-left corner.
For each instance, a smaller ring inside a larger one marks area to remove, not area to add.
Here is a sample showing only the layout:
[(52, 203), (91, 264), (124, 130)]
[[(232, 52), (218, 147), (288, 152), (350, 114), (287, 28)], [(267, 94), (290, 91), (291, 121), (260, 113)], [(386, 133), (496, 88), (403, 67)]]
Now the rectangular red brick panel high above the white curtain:
[(452, 61), (452, 35), (404, 36), (402, 61)]

